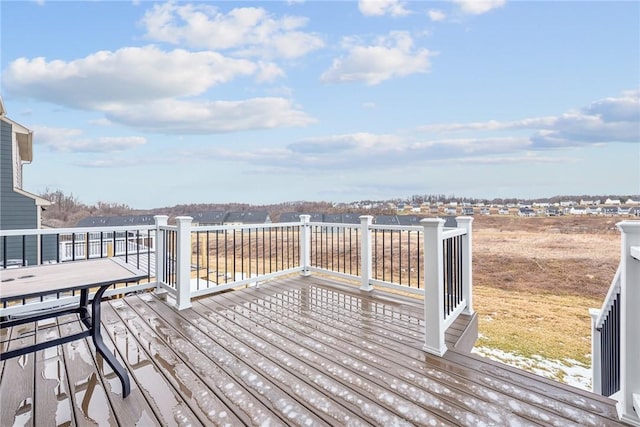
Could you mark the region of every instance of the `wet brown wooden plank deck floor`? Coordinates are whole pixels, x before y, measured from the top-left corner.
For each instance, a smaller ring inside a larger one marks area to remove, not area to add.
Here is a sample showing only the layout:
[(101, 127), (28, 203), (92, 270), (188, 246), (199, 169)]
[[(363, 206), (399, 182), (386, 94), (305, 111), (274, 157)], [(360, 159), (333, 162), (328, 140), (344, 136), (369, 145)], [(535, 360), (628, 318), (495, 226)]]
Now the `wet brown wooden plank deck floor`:
[(0, 425), (621, 425), (609, 399), (457, 350), (464, 322), (426, 354), (419, 301), (384, 292), (293, 277), (181, 312), (152, 294), (102, 307), (131, 395), (77, 341), (0, 366)]

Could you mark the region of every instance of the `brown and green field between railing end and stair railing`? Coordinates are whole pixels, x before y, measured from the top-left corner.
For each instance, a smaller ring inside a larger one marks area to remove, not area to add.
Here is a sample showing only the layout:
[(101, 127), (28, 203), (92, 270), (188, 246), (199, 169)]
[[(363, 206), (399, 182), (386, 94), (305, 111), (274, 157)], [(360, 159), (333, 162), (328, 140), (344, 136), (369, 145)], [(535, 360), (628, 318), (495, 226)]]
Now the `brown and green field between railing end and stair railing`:
[(477, 345), (589, 367), (588, 309), (600, 308), (618, 266), (621, 220), (477, 216)]

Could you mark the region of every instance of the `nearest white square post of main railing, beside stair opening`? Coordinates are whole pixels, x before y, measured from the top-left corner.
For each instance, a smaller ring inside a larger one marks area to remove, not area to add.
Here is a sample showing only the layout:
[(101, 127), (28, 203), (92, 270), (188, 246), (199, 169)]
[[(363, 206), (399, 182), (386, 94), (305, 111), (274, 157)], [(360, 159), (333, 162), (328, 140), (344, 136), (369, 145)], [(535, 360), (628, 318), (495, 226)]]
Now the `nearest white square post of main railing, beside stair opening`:
[(427, 218), (424, 227), (424, 351), (442, 356), (447, 352), (444, 341), (444, 272), (442, 230), (445, 221)]

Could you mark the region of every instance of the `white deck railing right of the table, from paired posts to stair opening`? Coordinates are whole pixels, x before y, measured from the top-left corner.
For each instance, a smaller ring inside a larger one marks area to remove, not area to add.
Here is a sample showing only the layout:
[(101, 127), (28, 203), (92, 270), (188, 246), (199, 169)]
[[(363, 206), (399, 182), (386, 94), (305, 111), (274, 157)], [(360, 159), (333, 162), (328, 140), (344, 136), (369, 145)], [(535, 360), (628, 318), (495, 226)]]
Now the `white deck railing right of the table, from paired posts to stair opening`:
[[(445, 229), (441, 219), (385, 227), (372, 225), (370, 216), (360, 224), (330, 224), (302, 215), (295, 223), (192, 227), (190, 217), (178, 217), (175, 226), (158, 223), (158, 287), (180, 310), (191, 306), (191, 298), (291, 273), (353, 279), (363, 291), (401, 289), (425, 296), (424, 349), (443, 355), (445, 330), (460, 313), (473, 313), (473, 219), (457, 220), (459, 228)], [(396, 234), (381, 243), (375, 233), (383, 230)]]

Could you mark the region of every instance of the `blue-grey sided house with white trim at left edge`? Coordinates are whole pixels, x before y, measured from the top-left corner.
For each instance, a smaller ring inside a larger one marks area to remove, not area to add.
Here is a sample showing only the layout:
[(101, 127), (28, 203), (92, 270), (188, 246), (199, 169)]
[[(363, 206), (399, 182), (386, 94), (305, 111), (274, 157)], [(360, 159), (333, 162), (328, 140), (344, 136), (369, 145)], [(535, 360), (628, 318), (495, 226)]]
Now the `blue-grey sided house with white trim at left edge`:
[[(33, 132), (6, 116), (0, 97), (0, 228), (2, 230), (42, 228), (42, 211), (51, 202), (22, 188), (22, 167), (33, 160)], [(50, 244), (35, 236), (25, 245), (7, 239), (0, 245), (3, 259), (15, 264), (36, 264)], [(55, 242), (54, 242), (55, 243)], [(46, 246), (46, 247), (45, 247)], [(24, 249), (24, 259), (23, 259)], [(6, 253), (4, 251), (6, 250)], [(55, 250), (55, 247), (52, 248)]]

